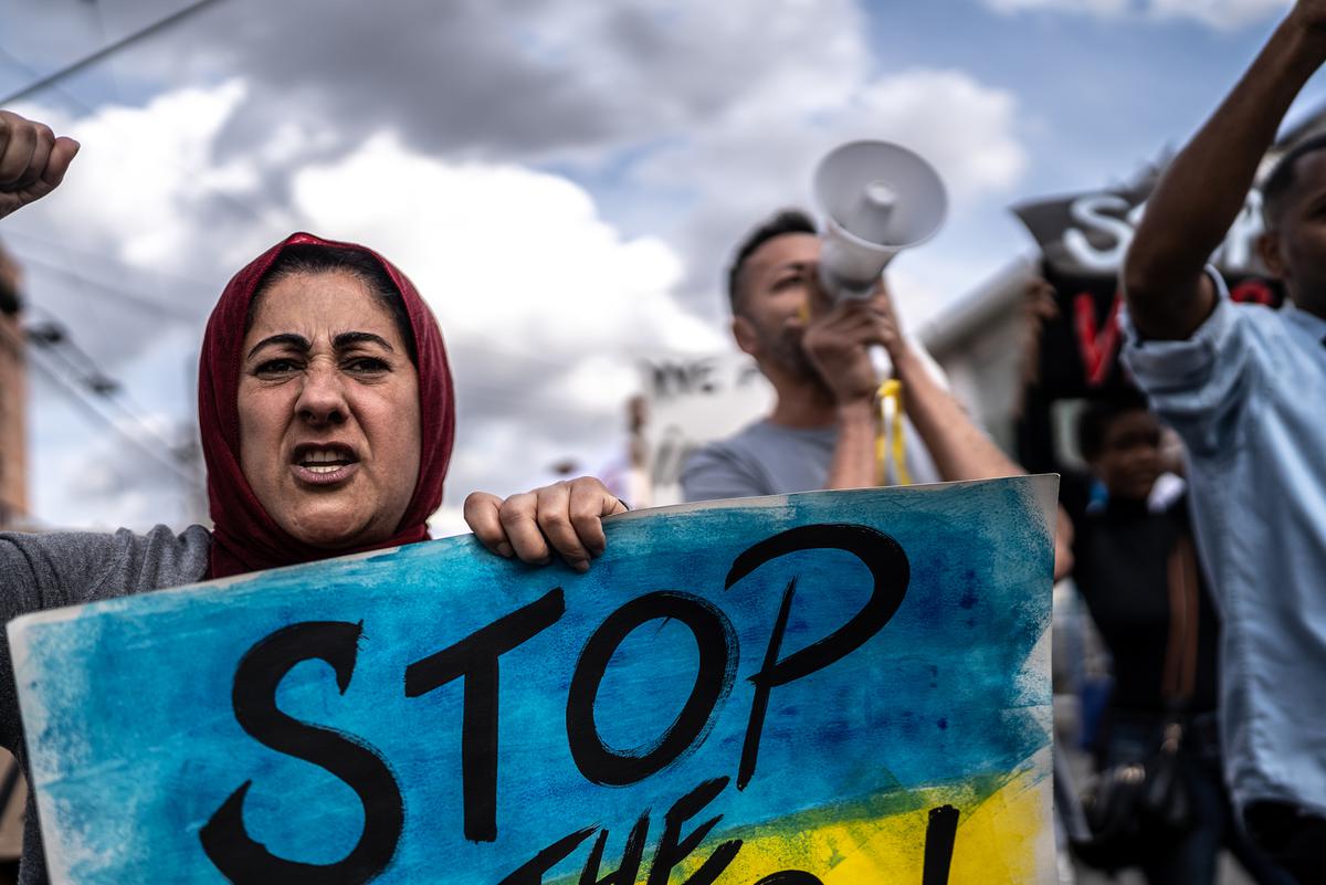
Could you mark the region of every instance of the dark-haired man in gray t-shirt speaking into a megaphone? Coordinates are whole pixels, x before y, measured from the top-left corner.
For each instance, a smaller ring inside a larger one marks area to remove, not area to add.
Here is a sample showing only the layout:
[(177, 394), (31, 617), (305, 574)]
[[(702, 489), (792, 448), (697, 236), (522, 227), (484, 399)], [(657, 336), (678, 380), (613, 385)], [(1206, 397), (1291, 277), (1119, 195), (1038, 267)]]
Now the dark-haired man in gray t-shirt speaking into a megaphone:
[[(1025, 473), (976, 427), (937, 380), (939, 367), (903, 335), (888, 290), (833, 303), (818, 285), (819, 237), (784, 209), (737, 248), (728, 272), (732, 334), (777, 393), (773, 412), (697, 449), (682, 473), (687, 501), (878, 485), (882, 344), (903, 386), (906, 468), (915, 482)], [(1067, 521), (1055, 535), (1055, 576), (1069, 566)]]

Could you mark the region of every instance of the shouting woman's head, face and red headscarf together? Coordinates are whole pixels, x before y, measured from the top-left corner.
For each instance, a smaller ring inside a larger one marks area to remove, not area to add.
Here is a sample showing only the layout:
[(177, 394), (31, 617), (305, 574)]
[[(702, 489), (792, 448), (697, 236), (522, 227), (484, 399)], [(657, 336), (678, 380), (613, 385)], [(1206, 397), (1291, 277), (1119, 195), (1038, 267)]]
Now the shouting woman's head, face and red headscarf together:
[(212, 311), (199, 423), (208, 576), (423, 541), (456, 423), (438, 323), (375, 252), (297, 233)]

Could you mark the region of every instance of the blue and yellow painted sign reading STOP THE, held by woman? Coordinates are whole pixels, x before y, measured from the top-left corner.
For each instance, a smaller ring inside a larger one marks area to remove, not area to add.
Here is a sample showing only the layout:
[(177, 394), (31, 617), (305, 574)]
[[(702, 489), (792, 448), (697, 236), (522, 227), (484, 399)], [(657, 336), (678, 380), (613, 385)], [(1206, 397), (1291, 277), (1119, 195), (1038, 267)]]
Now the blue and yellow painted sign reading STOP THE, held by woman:
[(471, 537), (9, 624), (54, 882), (1054, 881), (1053, 477)]

